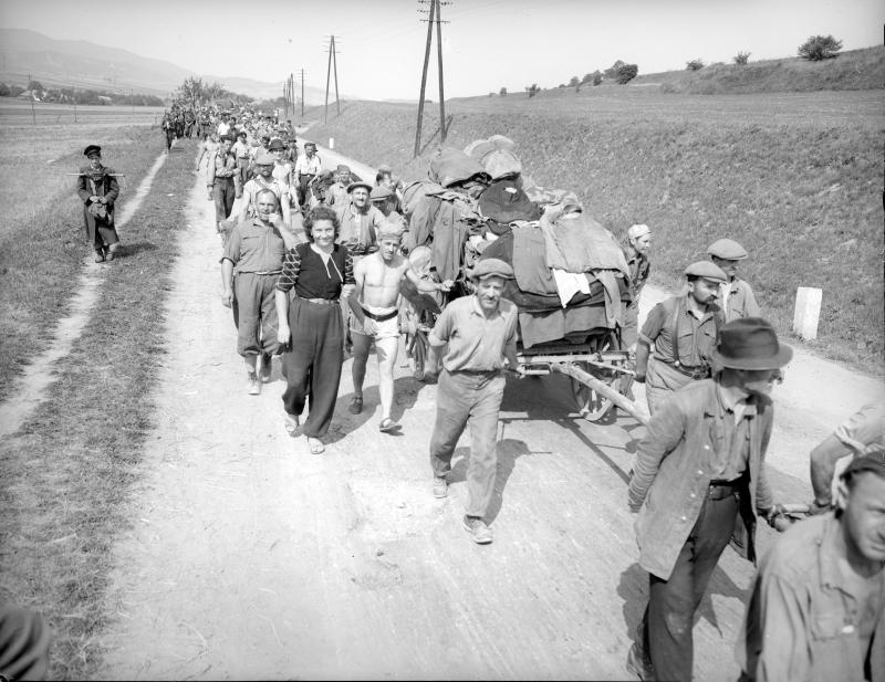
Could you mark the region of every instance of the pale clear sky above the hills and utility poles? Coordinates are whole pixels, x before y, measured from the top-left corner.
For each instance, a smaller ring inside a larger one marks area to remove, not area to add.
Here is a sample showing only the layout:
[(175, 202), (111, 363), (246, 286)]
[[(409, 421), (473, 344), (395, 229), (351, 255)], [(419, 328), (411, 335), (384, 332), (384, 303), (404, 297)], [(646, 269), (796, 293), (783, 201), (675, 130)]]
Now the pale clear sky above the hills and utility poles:
[[(200, 75), (278, 82), (305, 70), (325, 87), (336, 35), (342, 95), (416, 99), (428, 4), (420, 0), (2, 0), (0, 27), (86, 40)], [(686, 62), (794, 56), (810, 35), (844, 50), (882, 44), (882, 0), (450, 0), (442, 6), (446, 98), (554, 87), (616, 60), (639, 73)], [(438, 98), (436, 28), (428, 98)]]

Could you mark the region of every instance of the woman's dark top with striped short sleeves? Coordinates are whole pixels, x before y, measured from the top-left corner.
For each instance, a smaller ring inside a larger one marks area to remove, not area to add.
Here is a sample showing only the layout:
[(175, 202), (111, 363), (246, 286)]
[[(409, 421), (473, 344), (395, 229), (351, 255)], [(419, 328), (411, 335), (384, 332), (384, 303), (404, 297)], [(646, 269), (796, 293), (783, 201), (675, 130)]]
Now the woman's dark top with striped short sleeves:
[(355, 283), (353, 256), (346, 246), (335, 244), (329, 259), (323, 259), (306, 242), (285, 253), (277, 288), (281, 292), (294, 288), (300, 298), (334, 301), (341, 297), (344, 285)]

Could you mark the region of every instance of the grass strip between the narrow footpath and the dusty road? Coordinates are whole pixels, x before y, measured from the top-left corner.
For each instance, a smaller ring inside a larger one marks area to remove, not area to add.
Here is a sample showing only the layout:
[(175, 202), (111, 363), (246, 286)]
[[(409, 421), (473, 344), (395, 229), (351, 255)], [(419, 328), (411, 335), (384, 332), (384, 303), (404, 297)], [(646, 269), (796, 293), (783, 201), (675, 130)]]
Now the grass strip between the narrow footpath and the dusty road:
[(124, 505), (152, 426), (163, 303), (191, 186), (194, 146), (183, 147), (126, 228), (139, 249), (108, 265), (58, 382), (0, 449), (0, 601), (48, 618), (54, 679), (88, 679), (101, 654), (110, 552), (131, 523)]

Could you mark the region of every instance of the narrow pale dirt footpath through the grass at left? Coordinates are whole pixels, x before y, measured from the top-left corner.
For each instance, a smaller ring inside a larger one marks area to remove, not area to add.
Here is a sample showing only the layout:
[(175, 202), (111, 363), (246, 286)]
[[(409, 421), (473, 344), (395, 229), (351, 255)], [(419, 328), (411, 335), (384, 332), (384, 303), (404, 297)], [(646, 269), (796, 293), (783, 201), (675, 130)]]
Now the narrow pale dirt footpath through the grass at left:
[[(116, 227), (121, 237), (121, 246), (126, 250), (126, 223), (142, 206), (142, 201), (150, 191), (154, 177), (166, 161), (166, 154), (160, 154), (147, 171), (135, 193), (123, 196), (117, 214)], [(98, 297), (98, 290), (104, 282), (108, 267), (114, 263), (95, 263), (90, 253), (83, 260), (83, 272), (73, 288), (76, 293), (71, 300), (71, 312), (61, 318), (52, 334), (49, 348), (33, 358), (24, 373), (10, 391), (10, 398), (0, 403), (0, 438), (15, 433), (42, 402), (50, 384), (55, 380), (55, 363), (71, 353), (74, 342), (80, 337), (88, 322), (90, 314)]]

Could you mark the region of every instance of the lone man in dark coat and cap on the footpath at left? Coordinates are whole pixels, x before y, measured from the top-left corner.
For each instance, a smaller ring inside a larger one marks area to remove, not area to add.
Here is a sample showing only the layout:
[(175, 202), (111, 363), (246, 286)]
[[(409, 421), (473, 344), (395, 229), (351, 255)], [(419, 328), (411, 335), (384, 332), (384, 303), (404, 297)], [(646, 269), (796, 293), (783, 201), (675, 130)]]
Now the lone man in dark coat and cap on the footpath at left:
[(95, 262), (114, 260), (119, 248), (119, 235), (114, 223), (114, 202), (119, 196), (119, 185), (114, 170), (102, 164), (102, 148), (90, 145), (83, 151), (90, 162), (80, 169), (76, 193), (83, 201), (83, 222), (86, 237), (95, 251)]

